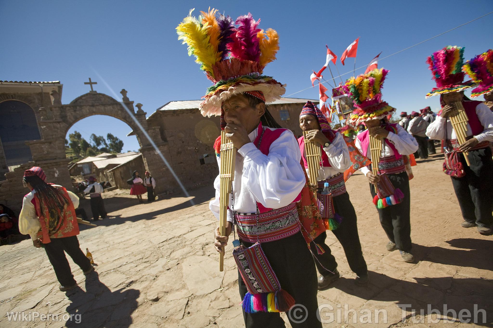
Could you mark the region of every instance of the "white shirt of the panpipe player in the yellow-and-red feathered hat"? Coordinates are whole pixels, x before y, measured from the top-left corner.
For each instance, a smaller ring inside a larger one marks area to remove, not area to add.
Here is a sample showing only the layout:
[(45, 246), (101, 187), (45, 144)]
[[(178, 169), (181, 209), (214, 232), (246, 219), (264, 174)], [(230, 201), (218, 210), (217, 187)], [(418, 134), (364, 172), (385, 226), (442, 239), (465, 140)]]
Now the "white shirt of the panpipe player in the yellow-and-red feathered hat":
[[(416, 150), (418, 150), (418, 142), (416, 142), (416, 139), (414, 139), (412, 135), (407, 133), (406, 130), (402, 128), (402, 126), (396, 125), (396, 127), (397, 134), (393, 132), (388, 132), (387, 140), (395, 146), (395, 149), (397, 149), (397, 151), (401, 155), (410, 155), (416, 152)], [(364, 153), (363, 148), (361, 147), (361, 142), (358, 138), (356, 138), (356, 140), (354, 141), (354, 145), (361, 153)], [(390, 157), (392, 155), (394, 155), (394, 151), (390, 147), (388, 147), (386, 143), (385, 147), (382, 147), (381, 157)], [(368, 144), (366, 157), (371, 159), (370, 144)], [(364, 166), (360, 170), (365, 176), (368, 174), (368, 172), (371, 172), (368, 166)]]

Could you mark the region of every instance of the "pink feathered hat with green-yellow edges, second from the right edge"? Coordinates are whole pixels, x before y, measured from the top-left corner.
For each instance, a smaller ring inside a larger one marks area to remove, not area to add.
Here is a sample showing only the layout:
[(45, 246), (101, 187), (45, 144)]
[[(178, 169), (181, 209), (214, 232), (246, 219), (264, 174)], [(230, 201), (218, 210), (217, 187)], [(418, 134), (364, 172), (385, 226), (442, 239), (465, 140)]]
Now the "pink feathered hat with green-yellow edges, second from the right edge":
[(426, 63), (435, 80), (436, 88), (426, 93), (426, 98), (431, 96), (458, 92), (474, 86), (472, 81), (464, 81), (464, 47), (447, 46), (442, 50), (436, 51), (428, 57)]

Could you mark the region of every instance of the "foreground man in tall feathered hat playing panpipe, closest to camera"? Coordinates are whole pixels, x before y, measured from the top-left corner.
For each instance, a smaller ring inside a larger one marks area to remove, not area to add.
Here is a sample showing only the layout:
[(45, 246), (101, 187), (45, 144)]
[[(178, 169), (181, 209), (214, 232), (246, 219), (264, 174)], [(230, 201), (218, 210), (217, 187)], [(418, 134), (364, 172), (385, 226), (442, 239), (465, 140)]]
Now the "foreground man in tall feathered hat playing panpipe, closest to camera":
[[(176, 28), (189, 55), (195, 55), (214, 83), (200, 105), (201, 113), (221, 116), (221, 129), (238, 149), (230, 157), (235, 170), (234, 180), (228, 182), (232, 192), (227, 200), (226, 233), (221, 236), (219, 228), (215, 230), (214, 246), (223, 253), (236, 224), (240, 240), (233, 241), (233, 257), (246, 327), (284, 327), (279, 312), (298, 303), (307, 310), (307, 319), (292, 322), (293, 326), (321, 328), (315, 263), (296, 206), (306, 185), (301, 153), (293, 133), (280, 128), (266, 106), (285, 91), (284, 85), (263, 74), (265, 65), (276, 59), (278, 34), (258, 29), (260, 21), (251, 14), (233, 22), (216, 12), (202, 12), (199, 19), (190, 12)], [(221, 172), (221, 160), (227, 160), (221, 138), (214, 149)], [(221, 175), (215, 179), (215, 199), (210, 203), (217, 218), (222, 211), (222, 179)]]

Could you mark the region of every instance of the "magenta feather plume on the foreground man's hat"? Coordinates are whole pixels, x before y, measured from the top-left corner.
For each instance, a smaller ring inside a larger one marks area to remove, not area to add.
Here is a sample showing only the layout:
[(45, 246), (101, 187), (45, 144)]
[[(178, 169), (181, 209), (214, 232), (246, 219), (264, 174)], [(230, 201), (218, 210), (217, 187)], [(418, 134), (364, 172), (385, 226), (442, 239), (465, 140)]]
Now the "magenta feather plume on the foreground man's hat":
[(237, 18), (238, 28), (232, 35), (233, 42), (229, 44), (231, 55), (240, 60), (259, 61), (260, 50), (257, 34), (260, 31), (258, 24), (250, 13)]

